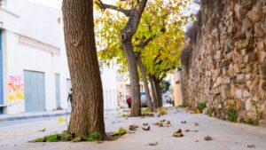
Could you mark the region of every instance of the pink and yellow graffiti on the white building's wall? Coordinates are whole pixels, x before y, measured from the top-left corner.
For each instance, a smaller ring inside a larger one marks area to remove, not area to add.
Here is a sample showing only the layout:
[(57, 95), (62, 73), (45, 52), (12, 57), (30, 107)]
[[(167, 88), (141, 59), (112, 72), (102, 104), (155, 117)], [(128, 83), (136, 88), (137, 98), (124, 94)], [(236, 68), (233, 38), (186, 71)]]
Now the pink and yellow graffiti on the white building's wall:
[(24, 100), (24, 85), (22, 76), (8, 77), (8, 102), (10, 104), (21, 104)]

